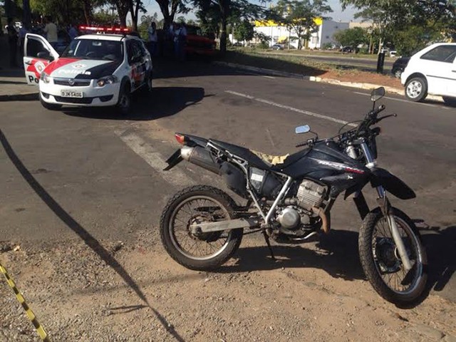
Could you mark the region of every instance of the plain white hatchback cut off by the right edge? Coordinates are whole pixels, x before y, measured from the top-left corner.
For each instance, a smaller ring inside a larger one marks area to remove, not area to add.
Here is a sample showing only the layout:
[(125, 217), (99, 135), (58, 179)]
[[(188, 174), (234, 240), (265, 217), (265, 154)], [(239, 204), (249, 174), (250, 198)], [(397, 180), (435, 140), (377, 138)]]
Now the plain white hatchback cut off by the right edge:
[(409, 100), (422, 101), (427, 94), (456, 104), (456, 43), (436, 43), (415, 53), (400, 76)]

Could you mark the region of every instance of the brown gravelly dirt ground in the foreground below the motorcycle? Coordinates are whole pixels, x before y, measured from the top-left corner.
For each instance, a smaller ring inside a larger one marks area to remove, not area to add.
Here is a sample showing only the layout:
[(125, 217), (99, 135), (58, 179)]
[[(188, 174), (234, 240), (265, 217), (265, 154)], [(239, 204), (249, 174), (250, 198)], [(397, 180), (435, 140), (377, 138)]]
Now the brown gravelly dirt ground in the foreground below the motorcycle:
[[(214, 273), (176, 264), (153, 229), (125, 242), (4, 242), (0, 260), (51, 341), (456, 341), (455, 304), (384, 301), (356, 239), (341, 246), (338, 234), (275, 244), (275, 262), (249, 235)], [(0, 317), (0, 341), (40, 341), (4, 279)]]

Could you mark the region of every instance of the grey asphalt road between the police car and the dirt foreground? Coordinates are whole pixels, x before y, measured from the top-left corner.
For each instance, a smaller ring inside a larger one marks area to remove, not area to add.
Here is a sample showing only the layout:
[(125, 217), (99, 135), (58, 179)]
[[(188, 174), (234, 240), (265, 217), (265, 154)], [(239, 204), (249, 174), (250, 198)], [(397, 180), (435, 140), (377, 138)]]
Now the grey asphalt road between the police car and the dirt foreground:
[[(304, 140), (296, 125), (321, 137), (371, 108), (364, 90), (288, 78), (252, 75), (210, 64), (158, 63), (153, 95), (135, 96), (132, 114), (110, 110), (49, 111), (37, 101), (0, 108), (0, 240), (58, 243), (90, 234), (122, 239), (137, 229), (157, 229), (167, 199), (187, 185), (220, 180), (181, 163), (162, 172), (177, 148), (174, 132), (226, 140), (271, 154), (296, 151)], [(378, 140), (379, 164), (417, 192), (393, 205), (420, 224), (433, 291), (456, 301), (456, 108), (410, 103), (387, 95)], [(366, 187), (368, 194), (373, 190)], [(373, 207), (373, 197), (368, 197)], [(361, 225), (351, 202), (333, 208), (336, 232)], [(427, 228), (426, 228), (427, 227)], [(333, 234), (334, 245), (357, 253), (356, 241)], [(338, 240), (340, 239), (340, 240)]]

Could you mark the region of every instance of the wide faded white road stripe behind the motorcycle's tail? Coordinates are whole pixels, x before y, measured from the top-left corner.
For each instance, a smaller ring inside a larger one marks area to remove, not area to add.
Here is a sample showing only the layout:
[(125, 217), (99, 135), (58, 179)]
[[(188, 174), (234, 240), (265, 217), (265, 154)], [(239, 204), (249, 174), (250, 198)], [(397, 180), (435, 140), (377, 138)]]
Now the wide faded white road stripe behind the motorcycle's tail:
[(167, 167), (167, 163), (163, 160), (162, 155), (154, 150), (152, 146), (147, 144), (147, 142), (142, 140), (136, 133), (128, 132), (128, 130), (126, 130), (115, 131), (115, 134), (170, 184), (176, 185), (177, 187), (195, 184), (193, 180), (180, 170), (172, 169), (171, 171), (163, 171), (163, 169)]

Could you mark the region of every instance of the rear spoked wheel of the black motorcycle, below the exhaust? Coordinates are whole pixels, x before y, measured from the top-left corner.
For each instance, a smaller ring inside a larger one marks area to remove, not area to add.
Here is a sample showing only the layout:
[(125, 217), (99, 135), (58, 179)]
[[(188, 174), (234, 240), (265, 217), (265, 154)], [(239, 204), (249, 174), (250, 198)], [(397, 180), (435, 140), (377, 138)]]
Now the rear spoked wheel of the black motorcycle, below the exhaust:
[(160, 237), (172, 259), (195, 270), (210, 270), (227, 261), (239, 248), (242, 229), (199, 232), (194, 224), (233, 217), (232, 199), (209, 186), (189, 187), (167, 203), (160, 219)]

